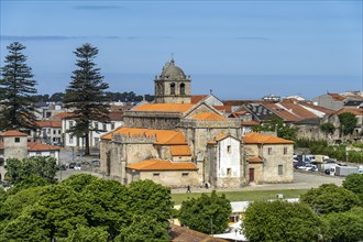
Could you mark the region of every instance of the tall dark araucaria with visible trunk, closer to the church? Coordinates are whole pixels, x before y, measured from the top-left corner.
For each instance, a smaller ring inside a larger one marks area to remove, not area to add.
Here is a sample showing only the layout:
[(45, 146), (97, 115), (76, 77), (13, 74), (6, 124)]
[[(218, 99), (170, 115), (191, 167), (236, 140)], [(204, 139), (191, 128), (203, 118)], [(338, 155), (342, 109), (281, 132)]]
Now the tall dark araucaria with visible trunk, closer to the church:
[(103, 82), (100, 68), (96, 67), (94, 59), (98, 54), (97, 47), (84, 44), (74, 52), (77, 56), (72, 81), (64, 97), (65, 108), (73, 109), (76, 124), (68, 132), (85, 140), (85, 154), (89, 154), (89, 132), (101, 131), (91, 127), (92, 121), (109, 122), (109, 105), (106, 89), (109, 85)]

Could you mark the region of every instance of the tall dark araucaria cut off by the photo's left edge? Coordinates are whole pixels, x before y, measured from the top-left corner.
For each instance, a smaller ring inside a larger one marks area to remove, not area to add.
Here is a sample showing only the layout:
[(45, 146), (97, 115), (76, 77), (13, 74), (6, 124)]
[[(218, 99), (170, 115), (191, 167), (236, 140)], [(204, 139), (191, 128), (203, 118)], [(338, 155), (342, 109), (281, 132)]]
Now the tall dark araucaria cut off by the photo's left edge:
[(0, 112), (0, 130), (34, 130), (36, 101), (34, 95), (36, 81), (33, 80), (32, 68), (26, 65), (26, 56), (22, 54), (25, 46), (19, 42), (8, 47), (9, 55), (1, 68), (0, 100), (3, 106)]

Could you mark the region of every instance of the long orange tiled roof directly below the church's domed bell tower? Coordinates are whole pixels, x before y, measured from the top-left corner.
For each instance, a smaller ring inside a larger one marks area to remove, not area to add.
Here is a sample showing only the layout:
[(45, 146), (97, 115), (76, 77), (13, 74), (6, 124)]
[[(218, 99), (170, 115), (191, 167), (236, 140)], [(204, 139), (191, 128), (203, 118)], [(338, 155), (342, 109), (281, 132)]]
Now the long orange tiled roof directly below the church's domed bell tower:
[(194, 105), (189, 103), (144, 103), (132, 109), (132, 111), (160, 111), (160, 112), (187, 112)]

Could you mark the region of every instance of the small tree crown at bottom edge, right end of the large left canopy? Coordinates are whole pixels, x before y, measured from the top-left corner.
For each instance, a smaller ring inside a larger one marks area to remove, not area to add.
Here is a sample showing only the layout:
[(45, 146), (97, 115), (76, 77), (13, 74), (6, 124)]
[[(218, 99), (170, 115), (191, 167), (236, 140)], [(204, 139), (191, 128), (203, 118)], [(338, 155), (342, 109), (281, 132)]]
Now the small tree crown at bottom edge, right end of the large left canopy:
[(129, 227), (121, 228), (121, 233), (114, 241), (154, 241), (155, 238), (157, 242), (170, 241), (167, 230), (155, 218), (135, 215)]

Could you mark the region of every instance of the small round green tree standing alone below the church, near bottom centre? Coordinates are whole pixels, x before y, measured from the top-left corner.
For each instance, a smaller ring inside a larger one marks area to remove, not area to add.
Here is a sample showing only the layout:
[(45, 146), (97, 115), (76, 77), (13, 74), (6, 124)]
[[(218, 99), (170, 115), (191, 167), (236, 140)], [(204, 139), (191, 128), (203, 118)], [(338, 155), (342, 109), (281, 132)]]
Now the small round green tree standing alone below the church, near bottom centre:
[(213, 190), (210, 197), (202, 194), (199, 198), (183, 201), (179, 220), (183, 224), (202, 233), (222, 233), (228, 228), (232, 212), (224, 194), (220, 197)]

